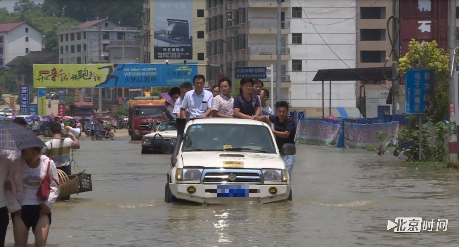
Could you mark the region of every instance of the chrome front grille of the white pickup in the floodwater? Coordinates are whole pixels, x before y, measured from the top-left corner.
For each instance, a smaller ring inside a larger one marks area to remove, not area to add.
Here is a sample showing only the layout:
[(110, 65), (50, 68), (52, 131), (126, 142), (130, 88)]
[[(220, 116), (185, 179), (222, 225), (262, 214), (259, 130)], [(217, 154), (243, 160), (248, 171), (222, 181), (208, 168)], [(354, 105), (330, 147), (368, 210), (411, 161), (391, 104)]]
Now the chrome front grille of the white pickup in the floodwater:
[[(229, 180), (228, 175), (235, 174), (235, 180)], [(226, 183), (263, 183), (261, 170), (252, 169), (205, 169), (202, 174), (203, 184)]]

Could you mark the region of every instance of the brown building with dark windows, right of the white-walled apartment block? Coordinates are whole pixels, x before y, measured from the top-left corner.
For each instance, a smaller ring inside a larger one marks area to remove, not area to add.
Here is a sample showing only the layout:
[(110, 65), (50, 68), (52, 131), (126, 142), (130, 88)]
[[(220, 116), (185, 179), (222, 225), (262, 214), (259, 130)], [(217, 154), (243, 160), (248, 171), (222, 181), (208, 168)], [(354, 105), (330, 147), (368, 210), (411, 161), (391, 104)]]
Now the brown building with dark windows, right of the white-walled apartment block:
[[(383, 67), (391, 45), (387, 36), (387, 19), (392, 16), (392, 0), (376, 3), (357, 0), (357, 67)], [(392, 29), (389, 30), (392, 34)], [(389, 61), (386, 66), (392, 66)], [(357, 102), (362, 104), (366, 118), (389, 114), (391, 105), (386, 104), (391, 81), (357, 81)]]

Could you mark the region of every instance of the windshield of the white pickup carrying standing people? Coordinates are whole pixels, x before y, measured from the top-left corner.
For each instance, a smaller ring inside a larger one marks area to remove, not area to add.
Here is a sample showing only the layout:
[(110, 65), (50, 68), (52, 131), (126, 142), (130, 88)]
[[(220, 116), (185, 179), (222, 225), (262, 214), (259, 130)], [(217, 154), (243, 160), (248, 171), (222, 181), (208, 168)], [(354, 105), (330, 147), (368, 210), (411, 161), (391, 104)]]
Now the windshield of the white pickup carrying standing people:
[(185, 133), (183, 151), (276, 153), (269, 129), (249, 124), (193, 124)]

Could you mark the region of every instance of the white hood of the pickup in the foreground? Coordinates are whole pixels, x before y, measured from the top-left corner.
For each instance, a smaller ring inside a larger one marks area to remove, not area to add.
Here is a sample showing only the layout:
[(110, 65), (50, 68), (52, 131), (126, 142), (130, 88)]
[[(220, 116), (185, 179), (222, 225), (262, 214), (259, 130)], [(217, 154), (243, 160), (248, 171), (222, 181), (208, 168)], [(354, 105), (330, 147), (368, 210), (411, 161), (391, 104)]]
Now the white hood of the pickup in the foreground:
[(238, 163), (243, 168), (285, 169), (285, 164), (278, 154), (254, 152), (183, 152), (183, 166), (202, 166), (208, 168), (229, 168), (224, 163)]

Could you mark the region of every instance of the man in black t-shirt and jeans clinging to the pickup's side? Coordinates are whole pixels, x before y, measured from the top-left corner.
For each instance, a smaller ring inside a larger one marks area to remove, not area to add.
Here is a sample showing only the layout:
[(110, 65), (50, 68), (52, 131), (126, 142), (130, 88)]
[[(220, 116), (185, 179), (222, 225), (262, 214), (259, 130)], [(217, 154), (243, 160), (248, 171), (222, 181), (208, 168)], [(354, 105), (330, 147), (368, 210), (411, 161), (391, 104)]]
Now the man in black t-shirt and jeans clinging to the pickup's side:
[[(276, 137), (276, 144), (281, 152), (282, 146), (286, 143), (295, 145), (295, 135), (297, 127), (295, 120), (290, 117), (289, 105), (286, 101), (278, 101), (276, 103), (276, 114), (265, 115), (258, 117), (259, 120), (265, 123), (273, 123), (273, 133)], [(282, 159), (285, 163), (291, 182), (291, 171), (293, 163), (295, 163), (295, 155), (284, 155), (281, 153)]]

